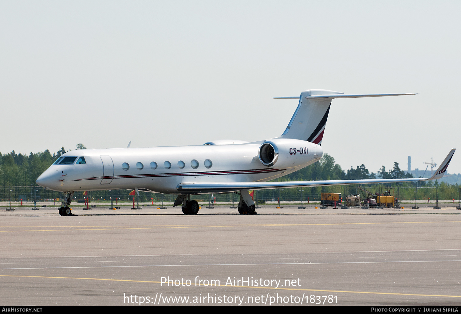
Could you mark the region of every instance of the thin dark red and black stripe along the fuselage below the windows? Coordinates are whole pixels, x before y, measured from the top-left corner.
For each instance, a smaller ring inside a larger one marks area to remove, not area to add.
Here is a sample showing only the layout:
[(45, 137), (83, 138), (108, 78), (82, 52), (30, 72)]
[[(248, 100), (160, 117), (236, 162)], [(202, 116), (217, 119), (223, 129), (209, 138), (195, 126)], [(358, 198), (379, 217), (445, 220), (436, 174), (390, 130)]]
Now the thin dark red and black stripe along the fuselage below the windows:
[(191, 176), (214, 176), (214, 175), (227, 175), (227, 174), (257, 174), (257, 173), (270, 173), (284, 171), (285, 169), (251, 169), (251, 170), (235, 170), (235, 171), (216, 171), (216, 172), (171, 172), (171, 173), (150, 173), (150, 174), (132, 174), (125, 176), (107, 176), (107, 177), (93, 177), (83, 178), (69, 181), (85, 181), (85, 180), (101, 180), (103, 178), (113, 179), (130, 179), (130, 178), (164, 178), (164, 177), (191, 177)]

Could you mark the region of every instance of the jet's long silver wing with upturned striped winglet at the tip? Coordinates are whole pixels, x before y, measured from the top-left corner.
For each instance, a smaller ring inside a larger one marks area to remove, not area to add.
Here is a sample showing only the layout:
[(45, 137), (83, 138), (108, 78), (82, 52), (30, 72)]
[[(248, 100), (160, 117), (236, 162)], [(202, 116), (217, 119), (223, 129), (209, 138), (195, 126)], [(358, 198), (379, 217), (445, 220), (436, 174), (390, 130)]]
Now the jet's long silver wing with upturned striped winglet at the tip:
[(285, 182), (185, 182), (177, 185), (177, 190), (182, 193), (211, 193), (231, 192), (236, 190), (266, 190), (282, 188), (316, 187), (345, 184), (374, 184), (396, 183), (435, 180), (443, 177), (447, 167), (455, 154), (453, 148), (437, 171), (431, 178), (405, 178), (405, 179), (361, 179), (361, 180), (323, 180), (323, 181), (285, 181)]

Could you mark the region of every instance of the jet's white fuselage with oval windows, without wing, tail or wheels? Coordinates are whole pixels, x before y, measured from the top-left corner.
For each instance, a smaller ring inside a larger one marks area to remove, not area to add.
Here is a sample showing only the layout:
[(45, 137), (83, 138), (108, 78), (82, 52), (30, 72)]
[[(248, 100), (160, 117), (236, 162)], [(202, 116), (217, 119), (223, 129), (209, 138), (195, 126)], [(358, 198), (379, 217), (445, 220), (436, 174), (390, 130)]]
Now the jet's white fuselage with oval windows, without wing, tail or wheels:
[[(323, 154), (319, 145), (310, 142), (278, 141), (281, 156), (274, 166), (260, 161), (259, 149), (265, 141), (75, 150), (61, 156), (75, 157), (72, 163), (53, 164), (37, 183), (63, 192), (137, 188), (180, 194), (177, 185), (185, 182), (266, 182), (308, 166)], [(80, 157), (85, 163), (79, 163)]]

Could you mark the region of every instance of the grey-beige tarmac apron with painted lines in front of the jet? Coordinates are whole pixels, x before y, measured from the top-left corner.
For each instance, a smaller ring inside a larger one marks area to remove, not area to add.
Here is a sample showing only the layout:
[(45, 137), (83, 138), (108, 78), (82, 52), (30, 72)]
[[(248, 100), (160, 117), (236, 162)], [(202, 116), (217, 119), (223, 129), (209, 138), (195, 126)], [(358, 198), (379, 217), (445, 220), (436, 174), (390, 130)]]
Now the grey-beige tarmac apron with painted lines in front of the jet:
[(430, 205), (1, 208), (0, 303), (460, 305), (461, 210)]

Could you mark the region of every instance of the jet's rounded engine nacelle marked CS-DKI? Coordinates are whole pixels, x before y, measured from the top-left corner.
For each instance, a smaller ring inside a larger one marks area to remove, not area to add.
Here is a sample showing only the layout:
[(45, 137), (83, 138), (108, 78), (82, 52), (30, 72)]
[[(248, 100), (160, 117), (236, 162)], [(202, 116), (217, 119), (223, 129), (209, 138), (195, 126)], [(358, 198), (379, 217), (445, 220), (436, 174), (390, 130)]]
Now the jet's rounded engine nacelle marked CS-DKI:
[(314, 143), (290, 138), (265, 141), (259, 148), (259, 159), (268, 167), (292, 168), (310, 164), (323, 155), (322, 148)]

